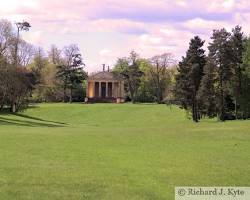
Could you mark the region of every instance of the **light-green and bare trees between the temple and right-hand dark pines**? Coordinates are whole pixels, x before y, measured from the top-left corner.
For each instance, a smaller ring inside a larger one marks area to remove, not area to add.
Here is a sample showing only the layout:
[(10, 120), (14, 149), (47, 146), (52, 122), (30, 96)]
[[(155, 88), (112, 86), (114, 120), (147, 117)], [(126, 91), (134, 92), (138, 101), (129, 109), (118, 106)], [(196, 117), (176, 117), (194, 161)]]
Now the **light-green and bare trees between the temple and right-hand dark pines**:
[[(132, 52), (137, 55), (136, 53)], [(131, 58), (119, 58), (113, 69), (113, 72), (123, 74), (124, 72), (135, 75), (130, 81), (132, 85), (136, 86), (133, 90), (135, 102), (158, 102), (162, 103), (165, 100), (172, 98), (172, 89), (174, 85), (174, 68), (173, 60), (170, 54), (163, 54), (154, 56), (151, 59), (137, 58), (134, 63), (137, 65), (137, 72), (133, 71)], [(157, 64), (158, 63), (158, 64)], [(158, 68), (158, 71), (157, 71)], [(129, 70), (128, 70), (129, 69)], [(131, 78), (130, 78), (131, 79)], [(131, 99), (131, 92), (129, 90), (129, 81), (125, 78), (125, 92), (129, 99)], [(157, 81), (159, 79), (159, 82)]]

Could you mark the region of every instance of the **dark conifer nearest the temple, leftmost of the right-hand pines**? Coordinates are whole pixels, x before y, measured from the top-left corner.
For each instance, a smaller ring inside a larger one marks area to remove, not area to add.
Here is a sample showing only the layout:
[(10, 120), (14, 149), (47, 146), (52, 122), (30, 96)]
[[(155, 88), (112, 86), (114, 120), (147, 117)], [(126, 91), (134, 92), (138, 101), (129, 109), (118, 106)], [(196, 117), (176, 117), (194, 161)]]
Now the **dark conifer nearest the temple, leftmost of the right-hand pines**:
[(186, 57), (179, 63), (179, 73), (176, 76), (176, 97), (184, 109), (191, 110), (195, 122), (200, 119), (197, 93), (206, 64), (205, 50), (202, 49), (204, 42), (198, 36), (191, 39)]

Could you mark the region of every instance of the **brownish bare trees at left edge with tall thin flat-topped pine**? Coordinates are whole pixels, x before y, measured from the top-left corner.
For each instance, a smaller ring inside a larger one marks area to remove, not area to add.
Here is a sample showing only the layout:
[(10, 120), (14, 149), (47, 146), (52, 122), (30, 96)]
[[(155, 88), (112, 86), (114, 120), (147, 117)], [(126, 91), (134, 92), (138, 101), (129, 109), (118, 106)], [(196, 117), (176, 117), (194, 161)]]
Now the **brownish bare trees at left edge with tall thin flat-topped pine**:
[(19, 31), (29, 27), (28, 23), (18, 24), (16, 36), (9, 21), (0, 21), (0, 108), (8, 107), (12, 112), (27, 105), (36, 82), (33, 72), (26, 68), (33, 46), (19, 38)]

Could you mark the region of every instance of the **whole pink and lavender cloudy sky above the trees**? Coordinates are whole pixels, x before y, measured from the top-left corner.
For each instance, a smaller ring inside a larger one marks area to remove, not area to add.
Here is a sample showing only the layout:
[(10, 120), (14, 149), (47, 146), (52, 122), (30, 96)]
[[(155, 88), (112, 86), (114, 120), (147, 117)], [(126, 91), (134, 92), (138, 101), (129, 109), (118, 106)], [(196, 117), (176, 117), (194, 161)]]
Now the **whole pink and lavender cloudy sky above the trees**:
[(77, 44), (88, 72), (111, 67), (135, 50), (141, 57), (171, 53), (178, 61), (199, 35), (236, 25), (250, 33), (249, 0), (0, 0), (0, 18), (28, 21), (22, 37), (48, 50)]

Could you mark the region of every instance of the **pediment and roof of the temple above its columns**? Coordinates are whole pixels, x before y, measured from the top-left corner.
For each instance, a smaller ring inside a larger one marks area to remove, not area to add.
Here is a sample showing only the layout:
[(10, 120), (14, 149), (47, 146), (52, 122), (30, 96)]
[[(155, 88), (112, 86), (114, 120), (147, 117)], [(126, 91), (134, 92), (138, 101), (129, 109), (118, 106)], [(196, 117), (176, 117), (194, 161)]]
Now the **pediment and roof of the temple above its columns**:
[(102, 71), (91, 74), (88, 77), (88, 80), (110, 80), (110, 81), (122, 81), (123, 78), (121, 75), (114, 72)]

